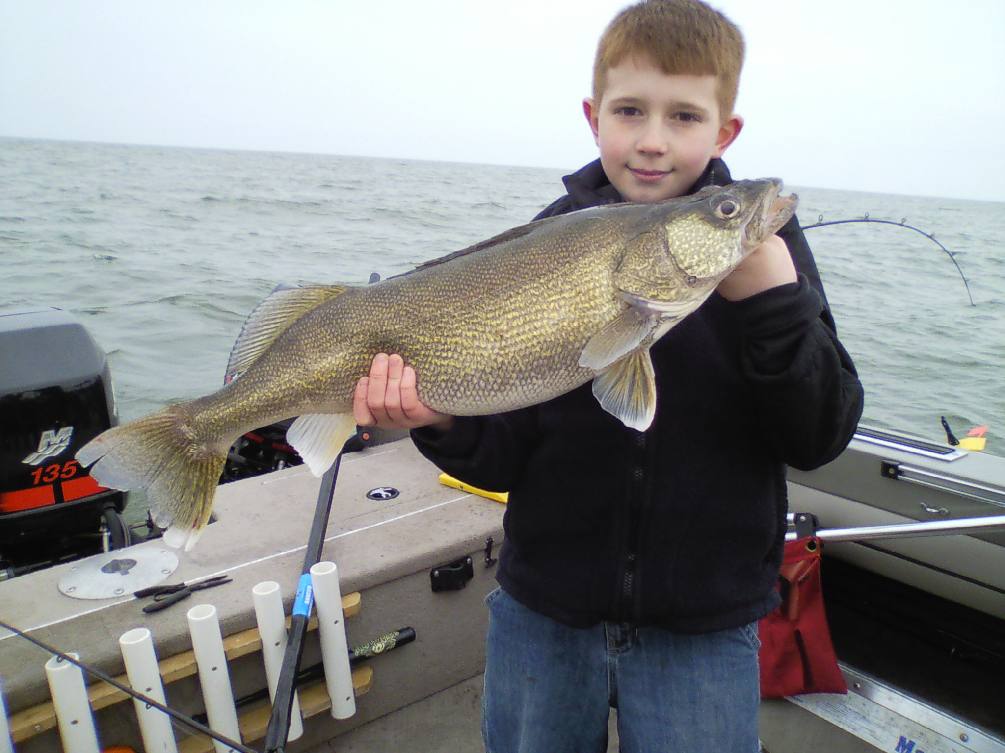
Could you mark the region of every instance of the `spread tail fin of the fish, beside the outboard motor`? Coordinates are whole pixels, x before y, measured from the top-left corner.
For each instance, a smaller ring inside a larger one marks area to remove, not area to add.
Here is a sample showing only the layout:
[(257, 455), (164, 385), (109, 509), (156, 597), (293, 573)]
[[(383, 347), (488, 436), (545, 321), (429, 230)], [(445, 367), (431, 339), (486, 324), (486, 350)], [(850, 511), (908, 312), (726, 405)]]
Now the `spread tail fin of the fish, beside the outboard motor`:
[(199, 438), (189, 404), (158, 411), (98, 435), (76, 453), (90, 475), (112, 489), (144, 489), (164, 541), (190, 550), (209, 522), (226, 452)]

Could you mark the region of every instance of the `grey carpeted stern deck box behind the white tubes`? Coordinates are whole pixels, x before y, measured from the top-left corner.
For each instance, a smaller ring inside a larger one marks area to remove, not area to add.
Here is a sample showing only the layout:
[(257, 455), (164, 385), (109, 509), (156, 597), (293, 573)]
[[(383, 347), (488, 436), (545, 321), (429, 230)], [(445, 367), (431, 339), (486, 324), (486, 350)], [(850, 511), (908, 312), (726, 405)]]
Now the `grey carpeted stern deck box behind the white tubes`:
[[(320, 714), (306, 725), (297, 748), (306, 748), (383, 717), (391, 711), (450, 688), (479, 674), (484, 665), (487, 610), (482, 598), (494, 587), (494, 570), (484, 564), (491, 536), (502, 539), (505, 506), (440, 485), (438, 471), (410, 441), (369, 448), (344, 458), (325, 543), (325, 559), (339, 565), (342, 592), (360, 591), (361, 608), (346, 622), (350, 646), (410, 625), (417, 638), (369, 663), (373, 690), (358, 699), (355, 717), (336, 721)], [(177, 550), (178, 569), (167, 582), (227, 574), (233, 582), (196, 591), (176, 606), (145, 614), (132, 596), (82, 600), (59, 592), (69, 563), (0, 582), (5, 621), (112, 675), (124, 671), (119, 637), (148, 628), (164, 659), (186, 652), (191, 640), (187, 611), (200, 603), (216, 606), (222, 633), (254, 626), (251, 588), (276, 580), (289, 611), (303, 564), (320, 480), (305, 466), (220, 487), (210, 524), (191, 552)], [(390, 500), (368, 499), (376, 487), (393, 487)], [(133, 547), (161, 547), (150, 541)], [(497, 550), (497, 549), (496, 549)], [(123, 556), (131, 550), (120, 550)], [(434, 593), (429, 570), (471, 555), (474, 578), (463, 590)], [(48, 699), (45, 652), (15, 636), (0, 633), (0, 676), (9, 711), (35, 707)], [(449, 658), (449, 661), (443, 661)], [(303, 666), (320, 661), (317, 634), (309, 634)], [(237, 697), (264, 686), (260, 655), (230, 665)], [(167, 686), (169, 705), (185, 713), (202, 710), (195, 678)], [(103, 743), (133, 744), (139, 750), (132, 710), (114, 706), (95, 715)], [(15, 737), (17, 737), (15, 731)], [(21, 753), (58, 749), (56, 731), (32, 734), (19, 743)], [(295, 749), (293, 746), (290, 749)]]

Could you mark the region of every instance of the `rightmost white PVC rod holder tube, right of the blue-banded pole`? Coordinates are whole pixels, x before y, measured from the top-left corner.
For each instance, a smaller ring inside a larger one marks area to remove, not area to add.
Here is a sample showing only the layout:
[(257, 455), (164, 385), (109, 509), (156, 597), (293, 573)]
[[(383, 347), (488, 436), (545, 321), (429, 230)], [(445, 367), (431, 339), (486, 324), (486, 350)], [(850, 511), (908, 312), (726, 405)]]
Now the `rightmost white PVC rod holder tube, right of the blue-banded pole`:
[(311, 581), (318, 606), (321, 657), (325, 663), (325, 684), (332, 699), (332, 716), (349, 719), (356, 713), (356, 694), (353, 691), (353, 670), (349, 666), (339, 568), (335, 562), (318, 562), (311, 567)]

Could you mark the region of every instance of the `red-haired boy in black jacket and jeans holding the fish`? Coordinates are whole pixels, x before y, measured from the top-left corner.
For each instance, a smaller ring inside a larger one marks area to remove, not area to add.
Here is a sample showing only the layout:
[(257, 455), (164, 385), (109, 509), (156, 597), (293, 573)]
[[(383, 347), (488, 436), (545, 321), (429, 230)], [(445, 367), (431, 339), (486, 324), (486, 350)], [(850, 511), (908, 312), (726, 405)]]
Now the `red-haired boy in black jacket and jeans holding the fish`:
[[(600, 159), (539, 217), (729, 183), (742, 62), (739, 30), (696, 0), (622, 11), (584, 102)], [(359, 424), (413, 429), (447, 473), (510, 491), (486, 598), (490, 753), (603, 751), (609, 707), (622, 751), (758, 749), (757, 620), (778, 604), (785, 467), (836, 457), (862, 392), (795, 218), (718, 293), (652, 346), (644, 433), (589, 385), (452, 418), (418, 402), (400, 356), (359, 384)]]

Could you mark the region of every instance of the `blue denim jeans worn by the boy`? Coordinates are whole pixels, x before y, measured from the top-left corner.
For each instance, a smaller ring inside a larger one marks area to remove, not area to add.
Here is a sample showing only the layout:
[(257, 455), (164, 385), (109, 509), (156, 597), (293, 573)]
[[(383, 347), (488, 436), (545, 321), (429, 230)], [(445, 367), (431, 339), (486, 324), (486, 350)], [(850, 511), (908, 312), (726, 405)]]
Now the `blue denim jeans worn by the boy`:
[(757, 753), (757, 623), (703, 636), (568, 628), (496, 588), (488, 604), (487, 753)]

